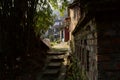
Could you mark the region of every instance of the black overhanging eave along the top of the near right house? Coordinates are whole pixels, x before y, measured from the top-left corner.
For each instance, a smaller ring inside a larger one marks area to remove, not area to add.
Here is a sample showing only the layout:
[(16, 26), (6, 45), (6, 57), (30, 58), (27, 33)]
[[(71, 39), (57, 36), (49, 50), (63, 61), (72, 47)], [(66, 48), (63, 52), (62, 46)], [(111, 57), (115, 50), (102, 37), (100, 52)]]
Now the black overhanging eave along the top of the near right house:
[(84, 11), (86, 11), (85, 17), (80, 19), (78, 24), (76, 25), (74, 31), (72, 32), (73, 35), (77, 34), (81, 28), (83, 28), (86, 23), (92, 19), (97, 14), (104, 14), (108, 12), (114, 12), (120, 10), (120, 1), (118, 0), (102, 0), (102, 1), (94, 1), (88, 2), (84, 7)]

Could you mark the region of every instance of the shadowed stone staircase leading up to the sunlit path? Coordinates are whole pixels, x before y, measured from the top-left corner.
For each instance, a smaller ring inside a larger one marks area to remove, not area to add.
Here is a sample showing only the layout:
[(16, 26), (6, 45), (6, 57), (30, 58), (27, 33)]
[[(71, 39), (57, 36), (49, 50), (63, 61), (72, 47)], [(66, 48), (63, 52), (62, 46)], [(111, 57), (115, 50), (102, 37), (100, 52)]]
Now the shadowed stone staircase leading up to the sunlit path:
[(46, 66), (39, 80), (64, 80), (67, 56), (67, 52), (48, 52)]

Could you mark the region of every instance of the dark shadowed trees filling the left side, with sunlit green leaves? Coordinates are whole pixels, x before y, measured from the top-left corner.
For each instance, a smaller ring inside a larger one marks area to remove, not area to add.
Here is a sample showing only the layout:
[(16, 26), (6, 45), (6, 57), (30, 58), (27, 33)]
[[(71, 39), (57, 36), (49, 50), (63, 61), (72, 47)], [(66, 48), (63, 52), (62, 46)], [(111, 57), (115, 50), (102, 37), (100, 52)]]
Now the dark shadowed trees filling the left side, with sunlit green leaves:
[(42, 68), (46, 49), (35, 34), (52, 25), (52, 10), (46, 1), (0, 0), (1, 80), (35, 80)]

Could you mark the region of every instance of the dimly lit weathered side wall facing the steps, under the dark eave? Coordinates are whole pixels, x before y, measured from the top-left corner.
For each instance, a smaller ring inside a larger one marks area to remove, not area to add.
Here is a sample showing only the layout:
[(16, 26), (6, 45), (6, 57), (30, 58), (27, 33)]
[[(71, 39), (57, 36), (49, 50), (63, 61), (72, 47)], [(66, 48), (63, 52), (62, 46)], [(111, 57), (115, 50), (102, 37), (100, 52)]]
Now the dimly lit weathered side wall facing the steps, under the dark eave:
[(97, 80), (97, 32), (94, 19), (75, 35), (75, 51), (89, 80)]

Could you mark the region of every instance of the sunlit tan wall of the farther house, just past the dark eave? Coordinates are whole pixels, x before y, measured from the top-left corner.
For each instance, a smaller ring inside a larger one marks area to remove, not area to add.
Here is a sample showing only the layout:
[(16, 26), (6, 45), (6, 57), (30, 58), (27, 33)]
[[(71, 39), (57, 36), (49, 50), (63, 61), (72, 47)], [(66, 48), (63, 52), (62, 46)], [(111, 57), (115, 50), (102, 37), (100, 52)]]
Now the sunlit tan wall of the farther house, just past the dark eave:
[[(70, 5), (71, 6), (71, 5)], [(75, 29), (79, 19), (81, 18), (81, 12), (80, 12), (80, 7), (78, 4), (75, 4), (72, 7), (69, 7), (69, 17), (71, 19), (70, 25), (69, 25), (69, 40), (70, 40), (70, 46), (72, 47), (72, 51), (74, 52), (74, 37), (72, 35), (73, 30)]]

